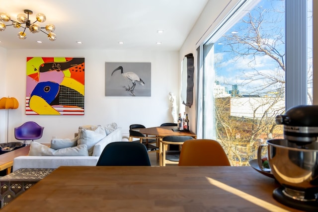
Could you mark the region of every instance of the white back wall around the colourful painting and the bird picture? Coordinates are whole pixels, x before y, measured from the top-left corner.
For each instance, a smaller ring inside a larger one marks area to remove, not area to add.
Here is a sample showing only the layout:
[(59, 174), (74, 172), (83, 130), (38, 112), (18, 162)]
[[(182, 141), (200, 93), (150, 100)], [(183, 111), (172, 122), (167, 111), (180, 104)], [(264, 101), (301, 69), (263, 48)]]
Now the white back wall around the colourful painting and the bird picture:
[[(115, 122), (123, 128), (123, 134), (128, 134), (130, 124), (155, 127), (164, 122), (172, 122), (169, 92), (178, 93), (178, 52), (7, 50), (6, 54), (7, 83), (6, 92), (2, 95), (14, 96), (19, 101), (19, 108), (9, 112), (9, 141), (16, 141), (14, 127), (26, 121), (35, 121), (45, 127), (43, 137), (38, 140), (42, 143), (50, 142), (53, 136), (73, 138), (81, 125), (106, 125)], [(85, 115), (25, 115), (27, 57), (85, 58)], [(151, 97), (106, 97), (105, 62), (151, 62)], [(0, 142), (6, 142), (4, 138), (6, 140), (1, 130)]]

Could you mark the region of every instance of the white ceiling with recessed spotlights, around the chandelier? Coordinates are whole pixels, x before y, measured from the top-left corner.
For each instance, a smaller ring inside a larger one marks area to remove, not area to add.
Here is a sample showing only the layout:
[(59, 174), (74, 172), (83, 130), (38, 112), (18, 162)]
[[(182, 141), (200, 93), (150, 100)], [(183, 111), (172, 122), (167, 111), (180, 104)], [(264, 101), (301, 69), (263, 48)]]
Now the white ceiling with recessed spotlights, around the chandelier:
[[(46, 15), (44, 27), (55, 25), (56, 41), (43, 32), (26, 40), (17, 38), (20, 29), (7, 26), (0, 32), (5, 49), (148, 49), (178, 51), (208, 0), (0, 0), (0, 12), (16, 20), (30, 9), (35, 21)], [(10, 22), (5, 22), (9, 24)], [(158, 34), (157, 30), (164, 30)], [(36, 41), (42, 41), (39, 44)], [(82, 44), (77, 44), (81, 41)], [(124, 44), (118, 44), (123, 41)], [(156, 42), (162, 42), (161, 45)]]

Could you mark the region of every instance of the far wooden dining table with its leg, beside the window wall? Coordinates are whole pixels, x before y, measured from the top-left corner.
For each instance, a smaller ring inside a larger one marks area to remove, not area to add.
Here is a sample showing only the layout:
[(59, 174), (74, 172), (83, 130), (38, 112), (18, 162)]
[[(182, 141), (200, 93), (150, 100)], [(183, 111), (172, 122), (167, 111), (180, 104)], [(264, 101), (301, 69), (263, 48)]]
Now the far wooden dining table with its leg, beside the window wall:
[(163, 152), (162, 152), (162, 143), (160, 140), (162, 140), (165, 136), (190, 136), (194, 139), (197, 138), (197, 135), (191, 131), (176, 131), (178, 127), (174, 126), (162, 126), (162, 127), (152, 127), (152, 128), (139, 128), (138, 131), (142, 134), (145, 134), (147, 136), (156, 136), (158, 140), (159, 145), (159, 165), (162, 166), (163, 161)]

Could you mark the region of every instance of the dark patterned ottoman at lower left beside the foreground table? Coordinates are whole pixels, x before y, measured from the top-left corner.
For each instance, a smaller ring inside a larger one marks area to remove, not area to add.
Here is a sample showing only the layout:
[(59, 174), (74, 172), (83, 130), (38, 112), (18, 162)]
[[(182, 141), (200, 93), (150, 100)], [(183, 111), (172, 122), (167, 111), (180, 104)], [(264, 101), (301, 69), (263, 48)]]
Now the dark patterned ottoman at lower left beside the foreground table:
[(39, 182), (53, 170), (54, 169), (23, 168), (0, 177), (0, 208), (28, 190), (32, 185)]

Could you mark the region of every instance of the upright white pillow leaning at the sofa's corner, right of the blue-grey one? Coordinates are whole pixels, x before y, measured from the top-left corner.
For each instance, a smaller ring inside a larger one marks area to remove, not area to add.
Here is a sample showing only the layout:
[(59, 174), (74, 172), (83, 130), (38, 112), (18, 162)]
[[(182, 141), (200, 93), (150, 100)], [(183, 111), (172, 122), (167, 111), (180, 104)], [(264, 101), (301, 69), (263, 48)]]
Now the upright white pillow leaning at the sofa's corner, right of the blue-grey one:
[(105, 137), (106, 132), (102, 126), (96, 126), (94, 131), (81, 129), (81, 131), (79, 131), (78, 145), (86, 144), (88, 155), (91, 156), (93, 154), (94, 145)]

